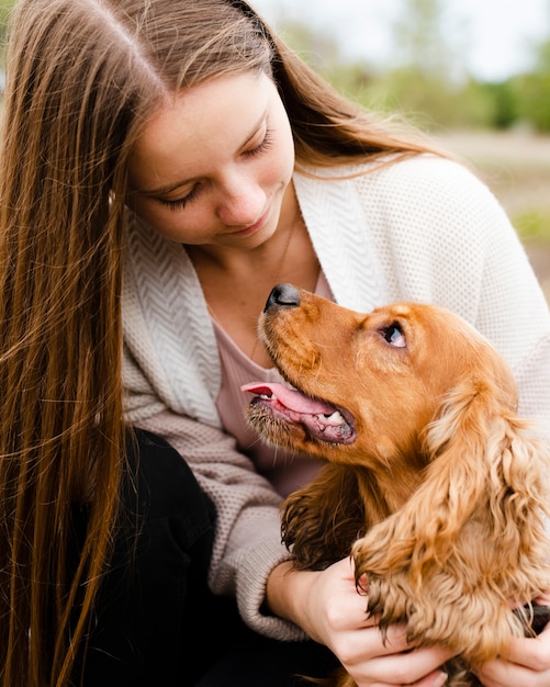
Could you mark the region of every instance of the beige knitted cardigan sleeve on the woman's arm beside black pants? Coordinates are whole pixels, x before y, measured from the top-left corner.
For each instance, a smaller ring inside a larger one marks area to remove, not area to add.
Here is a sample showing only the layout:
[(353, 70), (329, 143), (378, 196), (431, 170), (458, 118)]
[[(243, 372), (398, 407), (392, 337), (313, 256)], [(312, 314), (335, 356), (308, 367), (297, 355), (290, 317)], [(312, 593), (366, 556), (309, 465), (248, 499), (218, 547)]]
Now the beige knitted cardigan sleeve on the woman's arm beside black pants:
[(236, 450), (232, 437), (162, 407), (127, 349), (124, 368), (128, 420), (169, 441), (215, 504), (212, 590), (235, 596), (240, 615), (256, 631), (279, 640), (304, 639), (295, 624), (260, 611), (269, 573), (290, 558), (281, 543), (281, 497)]

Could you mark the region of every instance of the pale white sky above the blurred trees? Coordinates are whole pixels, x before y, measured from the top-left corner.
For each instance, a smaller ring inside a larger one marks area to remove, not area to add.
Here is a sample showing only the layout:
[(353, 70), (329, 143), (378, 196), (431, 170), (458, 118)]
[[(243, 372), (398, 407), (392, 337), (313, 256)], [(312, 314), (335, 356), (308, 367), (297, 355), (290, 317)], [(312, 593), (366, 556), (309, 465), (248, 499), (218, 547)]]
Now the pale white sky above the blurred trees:
[[(250, 0), (276, 29), (300, 20), (338, 40), (344, 55), (383, 66), (403, 0)], [(532, 67), (532, 46), (550, 37), (550, 0), (444, 0), (446, 36), (464, 68), (485, 81)]]

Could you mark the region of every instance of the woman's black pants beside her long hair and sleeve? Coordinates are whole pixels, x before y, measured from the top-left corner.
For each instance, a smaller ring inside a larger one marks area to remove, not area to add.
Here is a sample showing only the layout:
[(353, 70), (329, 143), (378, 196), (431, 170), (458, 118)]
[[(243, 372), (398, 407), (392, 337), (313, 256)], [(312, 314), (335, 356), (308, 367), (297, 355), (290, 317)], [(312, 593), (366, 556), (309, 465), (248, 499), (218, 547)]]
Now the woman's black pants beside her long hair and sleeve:
[(325, 647), (261, 637), (233, 599), (210, 593), (215, 514), (182, 458), (139, 430), (131, 465), (82, 685), (298, 687), (300, 674), (326, 676), (336, 660)]

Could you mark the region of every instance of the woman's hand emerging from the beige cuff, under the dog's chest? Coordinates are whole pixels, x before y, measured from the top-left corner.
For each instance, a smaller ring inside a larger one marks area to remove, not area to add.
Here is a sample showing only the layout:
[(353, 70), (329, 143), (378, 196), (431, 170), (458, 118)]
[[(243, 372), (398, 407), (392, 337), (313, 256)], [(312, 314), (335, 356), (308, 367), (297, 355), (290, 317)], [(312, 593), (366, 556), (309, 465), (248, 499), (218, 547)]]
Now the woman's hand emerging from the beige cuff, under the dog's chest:
[(356, 589), (350, 559), (321, 572), (294, 571), (292, 563), (283, 563), (271, 573), (267, 600), (273, 613), (328, 646), (358, 687), (445, 685), (438, 668), (451, 654), (438, 647), (408, 651), (401, 627), (391, 627), (383, 641), (366, 612), (367, 597)]

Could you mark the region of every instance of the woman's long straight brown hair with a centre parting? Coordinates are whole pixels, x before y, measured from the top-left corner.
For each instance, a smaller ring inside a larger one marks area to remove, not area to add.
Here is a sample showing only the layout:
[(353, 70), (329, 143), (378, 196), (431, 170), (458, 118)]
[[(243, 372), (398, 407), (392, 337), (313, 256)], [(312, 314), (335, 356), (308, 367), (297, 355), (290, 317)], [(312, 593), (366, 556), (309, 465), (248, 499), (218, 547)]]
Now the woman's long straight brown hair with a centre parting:
[[(375, 124), (240, 1), (20, 0), (0, 161), (0, 685), (65, 687), (92, 629), (125, 465), (126, 161), (175, 92), (276, 80), (299, 164), (426, 149)], [(67, 573), (75, 507), (89, 513)]]

